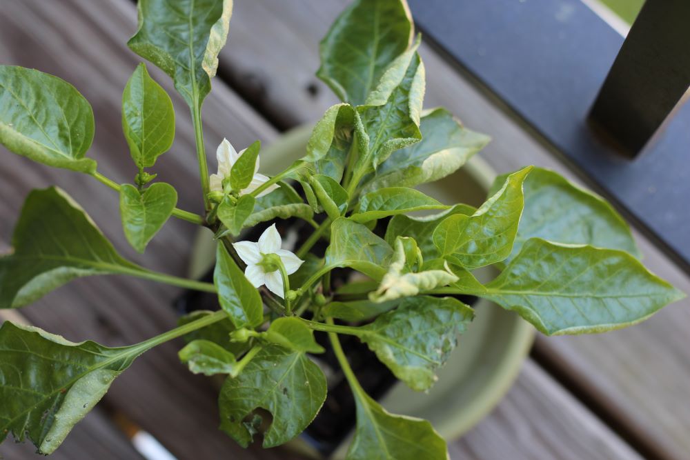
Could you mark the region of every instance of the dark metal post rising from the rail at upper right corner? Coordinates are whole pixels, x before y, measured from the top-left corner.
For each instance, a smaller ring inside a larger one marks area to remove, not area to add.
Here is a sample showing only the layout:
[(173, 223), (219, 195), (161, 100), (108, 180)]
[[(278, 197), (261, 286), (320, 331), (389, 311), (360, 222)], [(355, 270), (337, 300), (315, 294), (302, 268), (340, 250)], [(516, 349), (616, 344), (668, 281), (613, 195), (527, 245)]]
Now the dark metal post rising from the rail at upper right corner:
[(634, 158), (689, 86), (690, 1), (647, 0), (604, 81), (590, 121)]

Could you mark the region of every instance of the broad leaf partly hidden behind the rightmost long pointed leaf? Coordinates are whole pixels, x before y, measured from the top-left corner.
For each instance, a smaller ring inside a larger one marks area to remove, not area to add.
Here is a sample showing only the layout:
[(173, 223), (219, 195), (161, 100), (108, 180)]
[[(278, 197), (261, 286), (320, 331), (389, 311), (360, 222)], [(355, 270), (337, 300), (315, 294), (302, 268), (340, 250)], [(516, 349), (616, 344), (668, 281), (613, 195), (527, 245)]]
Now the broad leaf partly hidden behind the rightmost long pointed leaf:
[[(500, 188), (497, 184), (504, 180), (504, 176), (497, 177), (493, 188)], [(640, 259), (627, 223), (598, 195), (542, 168), (534, 168), (522, 187), (524, 210), (511, 259), (532, 237), (619, 249)]]

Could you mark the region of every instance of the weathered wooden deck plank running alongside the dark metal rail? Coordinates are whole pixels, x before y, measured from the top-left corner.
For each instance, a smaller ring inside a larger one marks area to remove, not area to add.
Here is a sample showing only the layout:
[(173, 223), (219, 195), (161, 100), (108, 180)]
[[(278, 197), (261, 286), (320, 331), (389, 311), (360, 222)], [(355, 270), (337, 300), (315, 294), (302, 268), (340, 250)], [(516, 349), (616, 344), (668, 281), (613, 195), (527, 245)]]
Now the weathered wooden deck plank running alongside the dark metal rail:
[[(221, 72), (232, 76), (236, 90), (258, 97), (267, 115), (281, 117), (286, 126), (318, 119), (336, 100), (313, 76), (319, 66), (317, 42), (345, 3), (238, 2), (230, 46), (221, 54), (225, 58), (221, 59)], [(256, 39), (253, 25), (257, 23), (262, 24), (261, 40)], [(439, 54), (428, 46), (422, 46), (420, 52), (427, 70), (425, 106), (446, 106), (467, 126), (491, 134), (493, 141), (482, 156), (496, 170), (506, 172), (536, 164), (578, 180), (558, 155)], [(318, 88), (315, 97), (306, 89), (309, 86)], [(255, 88), (261, 88), (258, 96)], [(690, 292), (690, 278), (649, 239), (639, 232), (636, 237), (651, 270)], [(690, 386), (686, 384), (690, 381), (686, 343), (689, 305), (686, 299), (627, 330), (587, 337), (540, 337), (539, 355), (557, 366), (569, 384), (584, 391), (638, 443), (662, 458), (684, 459), (690, 452), (686, 434), (690, 410), (683, 409), (683, 401), (690, 401)]]

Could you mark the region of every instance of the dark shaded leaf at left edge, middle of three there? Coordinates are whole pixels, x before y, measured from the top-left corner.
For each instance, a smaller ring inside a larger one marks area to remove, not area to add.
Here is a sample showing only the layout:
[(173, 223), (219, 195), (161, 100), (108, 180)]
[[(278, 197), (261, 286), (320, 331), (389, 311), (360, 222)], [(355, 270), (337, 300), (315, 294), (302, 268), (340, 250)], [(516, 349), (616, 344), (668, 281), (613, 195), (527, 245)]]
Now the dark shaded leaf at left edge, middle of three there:
[(110, 241), (66, 192), (30, 192), (12, 236), (14, 253), (0, 259), (0, 308), (35, 301), (78, 277), (132, 274), (141, 268)]

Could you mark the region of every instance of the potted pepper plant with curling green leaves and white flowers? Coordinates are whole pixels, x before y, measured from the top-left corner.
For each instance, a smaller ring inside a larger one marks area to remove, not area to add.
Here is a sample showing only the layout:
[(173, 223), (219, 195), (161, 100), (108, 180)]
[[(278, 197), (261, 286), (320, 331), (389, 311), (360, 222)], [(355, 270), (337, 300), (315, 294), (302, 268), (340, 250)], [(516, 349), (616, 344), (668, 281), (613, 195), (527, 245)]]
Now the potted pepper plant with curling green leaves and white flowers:
[[(342, 103), (316, 123), (302, 159), (266, 177), (258, 172), (259, 141), (237, 152), (224, 140), (217, 174), (209, 174), (201, 105), (232, 3), (140, 0), (139, 29), (128, 42), (172, 78), (190, 108), (203, 216), (176, 208), (175, 188), (150, 172), (172, 145), (175, 114), (144, 63), (122, 97), (124, 136), (138, 168), (132, 184), (108, 179), (86, 157), (94, 117), (73, 86), (0, 66), (0, 142), (8, 150), (117, 191), (124, 234), (139, 252), (171, 216), (210, 228), (217, 241), (213, 283), (153, 272), (121, 257), (66, 192), (34, 190), (13, 250), (0, 259), (0, 308), (96, 274), (213, 292), (221, 307), (119, 348), (4, 322), (0, 439), (28, 437), (50, 454), (132, 361), (185, 337), (179, 357), (192, 372), (226, 375), (221, 430), (242, 446), (258, 432), (264, 447), (279, 446), (324, 403), (326, 378), (311, 355), (324, 352), (314, 334), (325, 333), (357, 408), (348, 459), (445, 459), (446, 443), (428, 421), (386, 412), (366, 394), (340, 334), (366, 343), (397, 379), (424, 391), (473, 319), (459, 294), (490, 299), (546, 335), (623, 328), (683, 297), (640, 263), (629, 228), (608, 203), (555, 172), (528, 166), (498, 177), (479, 208), (413, 188), (455, 172), (489, 139), (442, 108), (422, 110), (420, 37), (404, 0), (356, 0), (336, 19), (317, 75)], [(275, 225), (257, 242), (242, 241), (244, 229), (290, 217), (313, 226), (295, 252), (282, 248)], [(321, 240), (325, 253), (315, 249)], [(500, 272), (486, 284), (473, 275), (484, 266)], [(335, 268), (363, 276), (337, 288)], [(259, 408), (272, 415), (268, 427)]]

